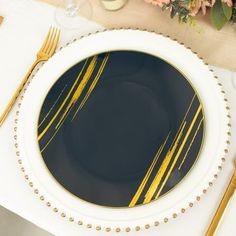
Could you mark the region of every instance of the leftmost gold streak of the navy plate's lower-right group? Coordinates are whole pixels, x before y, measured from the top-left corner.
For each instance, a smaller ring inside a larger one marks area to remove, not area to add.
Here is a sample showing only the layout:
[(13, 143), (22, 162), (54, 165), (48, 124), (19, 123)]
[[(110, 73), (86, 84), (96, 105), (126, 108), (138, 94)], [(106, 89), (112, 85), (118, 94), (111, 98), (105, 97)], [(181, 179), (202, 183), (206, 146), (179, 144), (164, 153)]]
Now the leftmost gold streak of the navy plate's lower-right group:
[(157, 153), (156, 153), (156, 155), (155, 155), (155, 157), (154, 157), (154, 159), (152, 161), (152, 164), (150, 165), (150, 167), (149, 167), (145, 177), (143, 178), (143, 180), (142, 180), (138, 190), (136, 191), (134, 197), (132, 198), (132, 200), (131, 200), (131, 202), (129, 204), (129, 207), (135, 206), (137, 201), (138, 201), (138, 199), (140, 198), (140, 195), (142, 194), (143, 189), (144, 189), (145, 185), (147, 184), (148, 179), (151, 176), (151, 173), (152, 173), (152, 171), (153, 171), (153, 169), (154, 169), (154, 167), (155, 167), (155, 165), (156, 165), (156, 163), (157, 163), (157, 161), (158, 161), (158, 159), (159, 159), (159, 157), (160, 157), (160, 155), (161, 155), (161, 153), (163, 151), (163, 148), (166, 145), (167, 140), (169, 139), (169, 136), (170, 136), (170, 132), (168, 133), (164, 143), (161, 144), (161, 146), (159, 147), (159, 149), (158, 149), (158, 151), (157, 151)]

